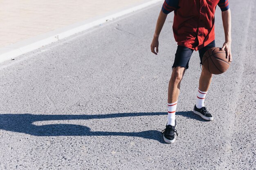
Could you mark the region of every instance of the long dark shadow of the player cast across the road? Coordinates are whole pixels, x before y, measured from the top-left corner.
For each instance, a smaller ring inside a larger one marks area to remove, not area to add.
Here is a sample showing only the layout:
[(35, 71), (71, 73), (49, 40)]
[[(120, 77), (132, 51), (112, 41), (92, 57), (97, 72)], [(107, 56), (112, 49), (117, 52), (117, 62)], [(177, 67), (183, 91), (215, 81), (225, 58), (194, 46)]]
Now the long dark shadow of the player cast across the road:
[[(196, 116), (191, 112), (177, 112), (189, 118)], [(132, 136), (153, 139), (164, 143), (162, 133), (158, 130), (147, 130), (142, 132), (103, 132), (90, 131), (87, 126), (75, 124), (48, 124), (37, 126), (36, 121), (52, 120), (85, 120), (85, 119), (109, 119), (115, 117), (153, 116), (166, 115), (166, 113), (113, 113), (105, 115), (33, 115), (33, 114), (1, 114), (0, 129), (13, 132), (21, 132), (34, 136)], [(200, 119), (201, 120), (201, 119)], [(143, 123), (143, 122), (142, 122)], [(164, 128), (164, 126), (163, 126)]]

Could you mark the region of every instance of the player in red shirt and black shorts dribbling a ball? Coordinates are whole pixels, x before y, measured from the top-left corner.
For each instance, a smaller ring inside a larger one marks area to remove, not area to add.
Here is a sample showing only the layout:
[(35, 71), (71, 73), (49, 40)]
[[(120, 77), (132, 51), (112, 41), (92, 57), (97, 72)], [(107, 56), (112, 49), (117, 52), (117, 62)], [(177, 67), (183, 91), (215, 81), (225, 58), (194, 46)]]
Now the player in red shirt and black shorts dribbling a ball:
[[(177, 134), (175, 112), (180, 93), (180, 82), (185, 70), (189, 68), (189, 59), (194, 50), (199, 51), (200, 64), (202, 64), (204, 53), (208, 49), (215, 47), (214, 13), (217, 5), (222, 11), (225, 32), (225, 43), (222, 46), (222, 50), (226, 51), (226, 57), (229, 57), (229, 61), (232, 62), (229, 0), (165, 0), (159, 13), (151, 43), (151, 52), (157, 55), (159, 34), (167, 14), (172, 11), (174, 11), (173, 34), (178, 44), (168, 86), (168, 116), (163, 134), (164, 141), (167, 143), (173, 143), (175, 141), (175, 133)], [(213, 120), (213, 117), (204, 107), (204, 98), (211, 84), (211, 77), (212, 74), (202, 65), (198, 95), (193, 109), (195, 114), (209, 121)]]

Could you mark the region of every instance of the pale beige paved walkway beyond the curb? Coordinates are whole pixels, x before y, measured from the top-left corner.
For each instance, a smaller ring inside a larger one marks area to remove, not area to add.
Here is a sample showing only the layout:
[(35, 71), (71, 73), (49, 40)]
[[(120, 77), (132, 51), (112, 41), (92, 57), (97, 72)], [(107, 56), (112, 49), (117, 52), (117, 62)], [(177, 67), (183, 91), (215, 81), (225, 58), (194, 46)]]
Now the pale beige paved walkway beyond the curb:
[(145, 0), (3, 0), (0, 48)]

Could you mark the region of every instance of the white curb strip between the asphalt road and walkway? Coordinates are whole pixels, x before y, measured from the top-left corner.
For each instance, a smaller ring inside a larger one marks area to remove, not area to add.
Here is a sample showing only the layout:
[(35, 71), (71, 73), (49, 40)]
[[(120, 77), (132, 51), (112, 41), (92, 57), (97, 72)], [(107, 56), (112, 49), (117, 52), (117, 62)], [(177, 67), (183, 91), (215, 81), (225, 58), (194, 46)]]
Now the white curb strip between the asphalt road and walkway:
[(13, 58), (18, 57), (19, 55), (25, 54), (29, 51), (39, 49), (42, 46), (51, 44), (52, 42), (56, 42), (63, 38), (67, 38), (70, 35), (74, 35), (81, 31), (85, 31), (89, 28), (92, 28), (93, 26), (103, 24), (108, 20), (113, 20), (117, 17), (148, 7), (151, 4), (155, 4), (163, 0), (151, 0), (149, 2), (147, 1), (148, 0), (146, 0), (145, 2), (142, 2), (139, 5), (137, 4), (135, 7), (122, 9), (120, 11), (115, 11), (112, 13), (105, 14), (105, 16), (100, 16), (100, 17), (89, 19), (89, 20), (85, 20), (83, 22), (78, 22), (76, 24), (65, 26), (63, 28), (56, 29), (54, 31), (49, 31), (41, 35), (37, 35), (33, 38), (29, 38), (27, 40), (20, 41), (15, 44), (11, 44), (9, 46), (0, 48), (0, 62), (4, 62), (6, 60), (12, 60)]

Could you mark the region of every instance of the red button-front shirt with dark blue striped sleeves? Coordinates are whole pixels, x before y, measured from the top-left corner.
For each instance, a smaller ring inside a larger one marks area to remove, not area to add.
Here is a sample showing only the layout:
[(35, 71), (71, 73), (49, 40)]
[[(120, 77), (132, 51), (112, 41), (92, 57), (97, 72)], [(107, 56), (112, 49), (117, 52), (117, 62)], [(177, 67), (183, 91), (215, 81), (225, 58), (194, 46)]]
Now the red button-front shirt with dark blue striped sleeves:
[(229, 0), (165, 0), (162, 11), (174, 11), (173, 34), (180, 46), (198, 50), (215, 39), (214, 13), (229, 9)]

